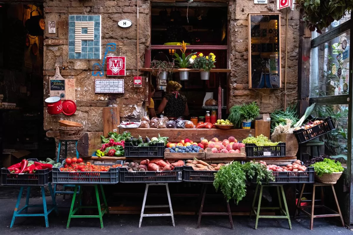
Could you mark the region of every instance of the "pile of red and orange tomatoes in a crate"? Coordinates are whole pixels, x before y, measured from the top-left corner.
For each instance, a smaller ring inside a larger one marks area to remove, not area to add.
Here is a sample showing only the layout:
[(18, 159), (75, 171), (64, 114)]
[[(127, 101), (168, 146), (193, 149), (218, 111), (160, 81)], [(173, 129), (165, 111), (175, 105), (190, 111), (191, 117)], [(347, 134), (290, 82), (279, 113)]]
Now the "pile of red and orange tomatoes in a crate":
[(121, 164), (113, 166), (94, 165), (90, 162), (84, 163), (82, 158), (66, 158), (64, 167), (60, 171), (66, 172), (107, 172), (110, 168), (121, 167)]

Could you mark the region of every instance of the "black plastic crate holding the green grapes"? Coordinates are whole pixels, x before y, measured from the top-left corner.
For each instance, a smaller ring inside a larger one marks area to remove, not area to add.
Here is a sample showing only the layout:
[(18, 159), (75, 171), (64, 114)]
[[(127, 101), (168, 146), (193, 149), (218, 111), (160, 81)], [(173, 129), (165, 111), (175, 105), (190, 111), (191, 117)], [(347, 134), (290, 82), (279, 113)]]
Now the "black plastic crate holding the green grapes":
[(285, 157), (286, 143), (278, 143), (276, 146), (257, 146), (256, 144), (245, 144), (246, 157)]

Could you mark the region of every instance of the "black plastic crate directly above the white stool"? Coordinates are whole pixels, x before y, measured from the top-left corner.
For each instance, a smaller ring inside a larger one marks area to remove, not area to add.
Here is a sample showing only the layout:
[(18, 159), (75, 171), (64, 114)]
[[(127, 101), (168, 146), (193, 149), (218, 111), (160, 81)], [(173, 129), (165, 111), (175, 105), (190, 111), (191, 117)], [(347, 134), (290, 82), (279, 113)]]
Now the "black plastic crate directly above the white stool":
[(133, 171), (119, 167), (121, 183), (173, 183), (183, 181), (183, 167), (174, 167), (173, 171)]

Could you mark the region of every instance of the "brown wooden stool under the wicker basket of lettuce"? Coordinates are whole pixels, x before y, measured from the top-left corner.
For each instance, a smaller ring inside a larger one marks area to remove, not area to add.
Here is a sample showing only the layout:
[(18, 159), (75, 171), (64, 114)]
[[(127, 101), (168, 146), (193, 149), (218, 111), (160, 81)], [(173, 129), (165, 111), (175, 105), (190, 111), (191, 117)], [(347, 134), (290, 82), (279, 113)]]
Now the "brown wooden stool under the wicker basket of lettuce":
[[(331, 185), (331, 188), (332, 188), (333, 195), (335, 197), (335, 202), (336, 202), (336, 206), (337, 206), (338, 212), (332, 210), (331, 208), (328, 208), (327, 206), (324, 205), (324, 202), (323, 202), (323, 197), (324, 197), (323, 196), (323, 187), (324, 186), (330, 186), (330, 185)], [(321, 201), (322, 201), (321, 204), (322, 205), (315, 205), (315, 188), (316, 187), (321, 187)], [(311, 205), (309, 205), (309, 206), (301, 206), (300, 205), (301, 198), (303, 197), (304, 188), (305, 188), (305, 184), (303, 184), (303, 188), (301, 189), (301, 193), (300, 193), (300, 196), (299, 196), (299, 199), (298, 199), (297, 208), (295, 210), (296, 213), (295, 213), (294, 217), (297, 216), (297, 212), (299, 214), (299, 211), (302, 211), (304, 214), (309, 216), (310, 217), (310, 229), (311, 230), (312, 230), (312, 227), (313, 227), (314, 218), (340, 217), (341, 218), (341, 222), (342, 222), (342, 227), (345, 226), (345, 222), (343, 222), (343, 217), (342, 217), (340, 205), (338, 204), (338, 200), (337, 200), (337, 196), (336, 196), (336, 192), (335, 192), (335, 188), (334, 188), (333, 184), (314, 183), (313, 184), (313, 190), (312, 190)], [(311, 213), (305, 211), (306, 208), (311, 208)], [(324, 209), (327, 209), (327, 210), (333, 212), (334, 214), (315, 215), (314, 214), (314, 209), (315, 208), (324, 208)]]

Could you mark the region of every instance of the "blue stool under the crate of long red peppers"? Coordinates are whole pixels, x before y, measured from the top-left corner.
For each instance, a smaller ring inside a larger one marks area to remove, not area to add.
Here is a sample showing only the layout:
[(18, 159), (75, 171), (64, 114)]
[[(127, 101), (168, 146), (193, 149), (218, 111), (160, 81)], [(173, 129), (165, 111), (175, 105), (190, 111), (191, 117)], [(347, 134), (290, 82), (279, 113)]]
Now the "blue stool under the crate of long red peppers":
[[(55, 210), (56, 215), (58, 215), (59, 213), (58, 213), (58, 208), (56, 207), (56, 203), (55, 203), (55, 197), (54, 197), (52, 184), (49, 183), (48, 186), (49, 186), (50, 196), (52, 196), (52, 200), (53, 200), (53, 202), (52, 202), (53, 204), (51, 205), (52, 208), (50, 208), (49, 210), (47, 209), (47, 201), (46, 201), (46, 198), (45, 198), (44, 186), (40, 186), (41, 187), (41, 191), (42, 191), (43, 205), (40, 205), (40, 204), (30, 205), (30, 204), (28, 204), (29, 203), (29, 192), (31, 190), (31, 187), (27, 187), (26, 204), (25, 204), (25, 206), (23, 206), (23, 208), (18, 209), (18, 207), (20, 205), (23, 189), (24, 189), (24, 186), (21, 186), (20, 192), (19, 192), (18, 197), (17, 197), (16, 207), (15, 207), (15, 209), (13, 211), (13, 216), (12, 216), (10, 228), (13, 227), (13, 224), (15, 222), (16, 217), (26, 217), (26, 216), (44, 216), (45, 227), (46, 228), (49, 227), (49, 223), (48, 223), (48, 215), (49, 215), (49, 213), (52, 212), (53, 210)], [(41, 207), (44, 210), (44, 212), (42, 214), (28, 214), (28, 208), (41, 208)], [(25, 213), (21, 213), (23, 211), (25, 211)]]

